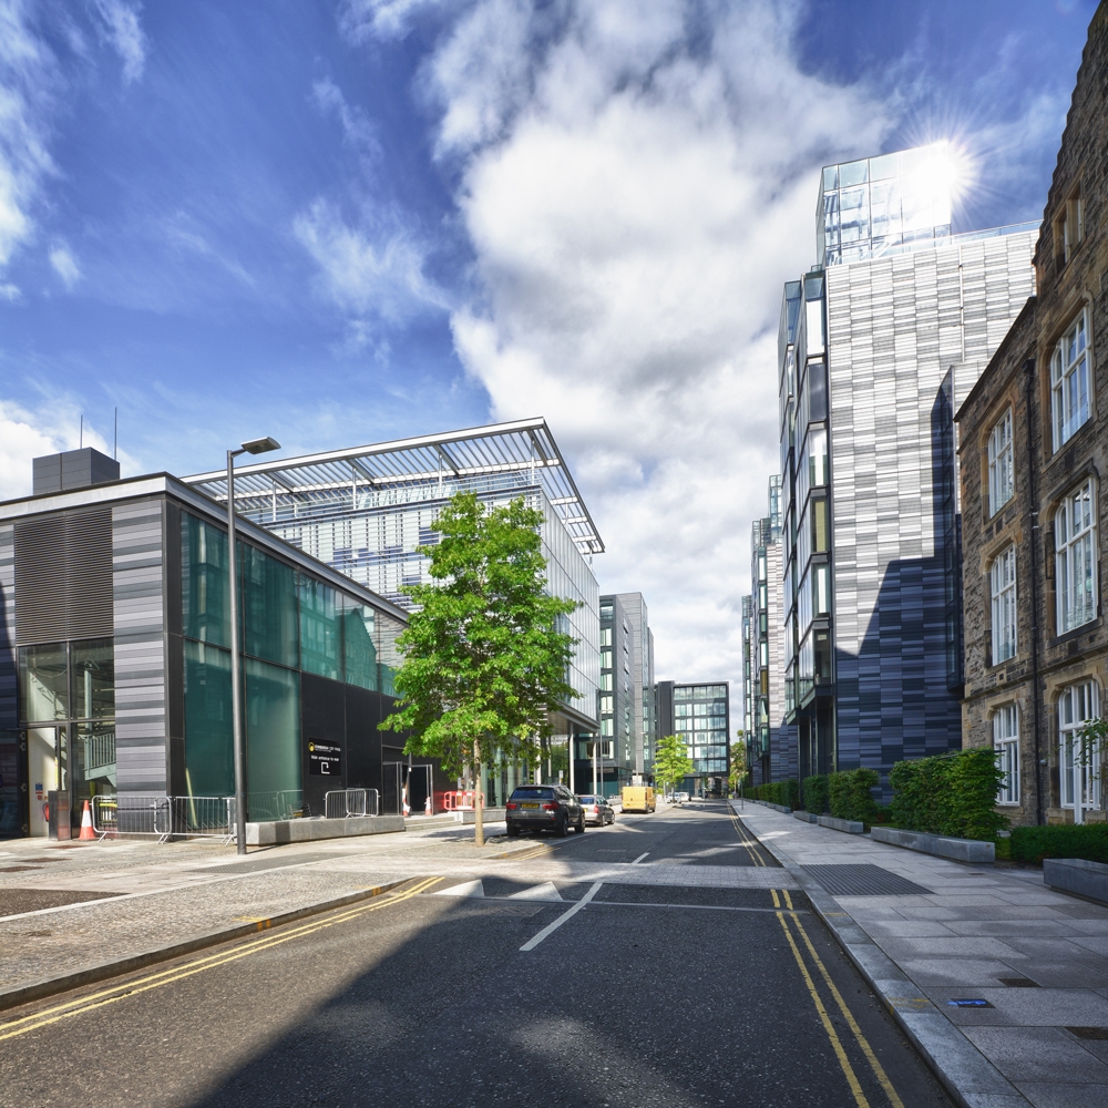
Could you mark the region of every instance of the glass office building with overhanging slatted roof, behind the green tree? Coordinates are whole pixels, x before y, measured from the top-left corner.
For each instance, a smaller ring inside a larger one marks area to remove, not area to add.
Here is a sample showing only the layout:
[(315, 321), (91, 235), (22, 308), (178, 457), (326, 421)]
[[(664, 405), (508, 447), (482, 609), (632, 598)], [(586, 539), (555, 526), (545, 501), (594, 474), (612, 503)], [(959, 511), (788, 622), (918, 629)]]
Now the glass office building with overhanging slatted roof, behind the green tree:
[[(226, 473), (185, 478), (226, 503)], [(592, 557), (604, 544), (545, 420), (422, 435), (243, 465), (235, 471), (240, 515), (280, 536), (399, 607), (404, 585), (429, 583), (430, 560), (417, 547), (437, 541), (439, 512), (459, 491), (486, 504), (522, 496), (543, 513), (547, 585), (577, 603), (567, 629), (577, 639), (555, 731), (598, 730), (599, 588)], [(506, 782), (502, 782), (506, 787)]]

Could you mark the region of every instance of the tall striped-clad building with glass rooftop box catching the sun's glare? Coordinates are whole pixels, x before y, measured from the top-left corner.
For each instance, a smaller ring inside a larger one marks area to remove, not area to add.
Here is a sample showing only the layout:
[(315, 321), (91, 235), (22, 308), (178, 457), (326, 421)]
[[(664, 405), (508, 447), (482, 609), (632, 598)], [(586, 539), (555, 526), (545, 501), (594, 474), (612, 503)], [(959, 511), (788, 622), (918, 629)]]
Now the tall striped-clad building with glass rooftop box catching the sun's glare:
[(1037, 225), (952, 233), (945, 144), (831, 165), (784, 286), (782, 579), (798, 773), (961, 745), (953, 413), (1034, 291)]

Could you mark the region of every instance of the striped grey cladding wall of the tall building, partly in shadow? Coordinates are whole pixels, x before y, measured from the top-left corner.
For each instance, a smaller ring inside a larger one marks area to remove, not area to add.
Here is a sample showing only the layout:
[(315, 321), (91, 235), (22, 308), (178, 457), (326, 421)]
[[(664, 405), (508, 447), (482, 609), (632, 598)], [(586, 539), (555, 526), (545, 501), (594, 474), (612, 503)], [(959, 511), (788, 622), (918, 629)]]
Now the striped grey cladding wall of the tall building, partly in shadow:
[(936, 403), (964, 396), (1034, 289), (1034, 232), (828, 270), (838, 766), (961, 746), (946, 681)]

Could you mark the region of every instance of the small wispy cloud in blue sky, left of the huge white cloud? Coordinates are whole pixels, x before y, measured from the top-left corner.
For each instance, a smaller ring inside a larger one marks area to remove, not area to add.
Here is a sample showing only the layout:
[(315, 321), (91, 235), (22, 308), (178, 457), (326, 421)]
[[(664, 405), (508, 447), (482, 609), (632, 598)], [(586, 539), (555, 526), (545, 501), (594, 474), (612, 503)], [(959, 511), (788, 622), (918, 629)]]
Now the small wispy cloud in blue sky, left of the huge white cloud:
[(425, 250), (398, 218), (347, 223), (326, 201), (316, 201), (294, 233), (320, 269), (320, 290), (355, 317), (399, 322), (429, 307), (445, 307), (443, 294), (423, 273)]

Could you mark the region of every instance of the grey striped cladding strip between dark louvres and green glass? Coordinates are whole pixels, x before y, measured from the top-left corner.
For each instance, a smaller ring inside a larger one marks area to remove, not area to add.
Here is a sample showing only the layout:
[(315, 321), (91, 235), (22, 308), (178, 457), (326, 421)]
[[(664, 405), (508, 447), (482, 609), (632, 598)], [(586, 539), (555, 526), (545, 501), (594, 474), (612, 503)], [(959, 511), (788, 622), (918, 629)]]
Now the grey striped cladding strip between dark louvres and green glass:
[(161, 500), (112, 509), (120, 792), (166, 791), (163, 511)]

